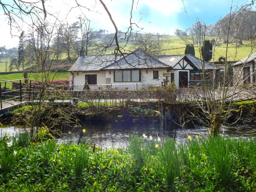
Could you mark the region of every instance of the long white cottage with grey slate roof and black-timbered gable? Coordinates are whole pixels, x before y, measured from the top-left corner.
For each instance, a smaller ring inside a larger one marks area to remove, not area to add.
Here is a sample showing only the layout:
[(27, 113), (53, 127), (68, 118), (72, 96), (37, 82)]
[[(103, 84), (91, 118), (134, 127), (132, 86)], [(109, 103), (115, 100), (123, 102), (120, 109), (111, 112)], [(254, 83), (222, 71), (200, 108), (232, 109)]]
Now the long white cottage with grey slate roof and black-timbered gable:
[[(190, 72), (201, 69), (193, 55), (150, 56), (141, 49), (121, 55), (80, 56), (70, 67), (70, 85), (74, 90), (90, 88), (138, 88), (189, 85)], [(169, 77), (165, 77), (168, 73)], [(88, 85), (87, 85), (88, 84)], [(86, 85), (86, 86), (85, 86)]]

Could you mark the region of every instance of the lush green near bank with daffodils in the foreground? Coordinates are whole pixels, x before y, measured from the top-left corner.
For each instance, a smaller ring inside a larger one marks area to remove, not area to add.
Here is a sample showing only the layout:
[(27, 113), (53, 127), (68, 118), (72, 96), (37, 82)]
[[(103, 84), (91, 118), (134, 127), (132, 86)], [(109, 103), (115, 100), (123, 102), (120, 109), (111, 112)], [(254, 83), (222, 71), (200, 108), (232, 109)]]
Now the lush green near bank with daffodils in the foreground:
[(131, 138), (128, 148), (101, 149), (6, 135), (0, 190), (256, 191), (255, 144), (256, 138), (188, 137), (175, 145), (144, 135)]

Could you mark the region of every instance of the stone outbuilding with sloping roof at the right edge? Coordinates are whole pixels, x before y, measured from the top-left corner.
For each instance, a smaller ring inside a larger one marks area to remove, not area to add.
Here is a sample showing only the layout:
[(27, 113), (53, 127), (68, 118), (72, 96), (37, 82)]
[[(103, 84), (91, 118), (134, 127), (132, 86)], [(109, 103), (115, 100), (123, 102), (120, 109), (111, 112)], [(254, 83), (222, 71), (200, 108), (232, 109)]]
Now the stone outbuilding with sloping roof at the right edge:
[(256, 52), (233, 64), (234, 84), (252, 84), (256, 82)]

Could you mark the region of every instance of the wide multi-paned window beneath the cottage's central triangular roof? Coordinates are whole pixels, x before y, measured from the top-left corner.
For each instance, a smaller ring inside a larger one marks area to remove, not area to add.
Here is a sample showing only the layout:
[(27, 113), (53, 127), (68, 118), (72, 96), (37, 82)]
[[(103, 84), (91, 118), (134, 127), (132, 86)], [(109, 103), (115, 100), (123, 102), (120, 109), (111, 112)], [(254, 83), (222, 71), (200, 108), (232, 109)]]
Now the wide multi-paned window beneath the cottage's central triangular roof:
[(140, 70), (115, 70), (114, 82), (140, 81)]

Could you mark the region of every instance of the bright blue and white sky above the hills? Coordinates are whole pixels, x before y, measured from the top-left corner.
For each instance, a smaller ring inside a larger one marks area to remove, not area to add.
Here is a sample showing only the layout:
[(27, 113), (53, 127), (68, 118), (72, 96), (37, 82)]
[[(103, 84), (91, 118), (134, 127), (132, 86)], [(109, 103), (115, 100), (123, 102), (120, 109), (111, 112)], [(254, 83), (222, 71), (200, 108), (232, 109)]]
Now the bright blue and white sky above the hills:
[[(11, 3), (12, 0), (2, 0)], [(30, 2), (36, 0), (29, 0)], [(105, 29), (108, 33), (114, 32), (114, 27), (99, 0), (77, 0), (81, 7), (76, 7), (75, 0), (46, 0), (48, 12), (58, 17), (58, 20), (73, 23), (79, 16), (86, 16), (91, 20), (94, 29)], [(125, 31), (129, 26), (132, 0), (103, 0), (111, 13), (119, 30)], [(233, 2), (233, 4), (232, 4)], [(196, 20), (207, 25), (215, 23), (230, 12), (233, 5), (237, 7), (250, 3), (250, 0), (134, 0), (132, 22), (137, 23), (140, 32), (153, 32), (174, 35), (175, 29), (185, 30)], [(84, 8), (89, 8), (90, 10)], [(72, 9), (71, 9), (72, 8)], [(71, 10), (70, 10), (71, 9)], [(49, 21), (55, 19), (47, 16)], [(29, 23), (29, 17), (24, 17)], [(13, 29), (12, 36), (6, 15), (0, 7), (0, 47), (17, 47), (20, 30)], [(21, 22), (20, 22), (21, 23)], [(26, 32), (28, 26), (20, 24)], [(134, 29), (136, 27), (134, 26)]]

